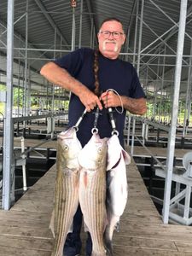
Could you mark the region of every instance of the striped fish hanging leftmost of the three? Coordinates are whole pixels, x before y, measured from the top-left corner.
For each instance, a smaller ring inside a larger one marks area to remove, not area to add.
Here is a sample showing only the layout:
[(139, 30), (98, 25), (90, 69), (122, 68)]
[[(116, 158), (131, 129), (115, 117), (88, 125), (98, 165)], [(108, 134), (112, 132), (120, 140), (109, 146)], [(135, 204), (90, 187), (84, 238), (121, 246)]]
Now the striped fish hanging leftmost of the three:
[(57, 139), (55, 206), (49, 228), (55, 237), (52, 256), (62, 256), (67, 233), (79, 205), (79, 161), (82, 149), (74, 128), (62, 131)]

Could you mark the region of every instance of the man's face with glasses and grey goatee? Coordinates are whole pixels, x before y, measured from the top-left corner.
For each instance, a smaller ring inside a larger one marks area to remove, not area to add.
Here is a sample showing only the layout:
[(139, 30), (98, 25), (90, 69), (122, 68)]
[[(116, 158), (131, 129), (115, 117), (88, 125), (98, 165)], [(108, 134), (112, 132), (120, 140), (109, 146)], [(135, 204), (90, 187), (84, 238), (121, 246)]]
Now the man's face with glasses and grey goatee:
[(122, 44), (125, 42), (122, 25), (116, 20), (106, 21), (102, 24), (97, 37), (102, 55), (109, 59), (116, 59), (119, 56)]

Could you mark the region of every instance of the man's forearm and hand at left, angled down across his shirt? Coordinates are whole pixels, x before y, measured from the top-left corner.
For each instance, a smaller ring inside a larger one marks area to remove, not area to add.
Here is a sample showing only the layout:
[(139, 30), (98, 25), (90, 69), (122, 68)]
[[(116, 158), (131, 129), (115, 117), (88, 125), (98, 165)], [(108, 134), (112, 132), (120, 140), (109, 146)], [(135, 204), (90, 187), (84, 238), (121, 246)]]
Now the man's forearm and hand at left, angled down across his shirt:
[(81, 84), (77, 79), (74, 79), (67, 70), (59, 67), (54, 62), (49, 62), (40, 70), (41, 75), (48, 79), (50, 83), (61, 86), (66, 90), (70, 90), (76, 96), (79, 96), (80, 101), (84, 104), (87, 111), (95, 108), (96, 105), (102, 109), (102, 103), (98, 97), (90, 91), (84, 84)]

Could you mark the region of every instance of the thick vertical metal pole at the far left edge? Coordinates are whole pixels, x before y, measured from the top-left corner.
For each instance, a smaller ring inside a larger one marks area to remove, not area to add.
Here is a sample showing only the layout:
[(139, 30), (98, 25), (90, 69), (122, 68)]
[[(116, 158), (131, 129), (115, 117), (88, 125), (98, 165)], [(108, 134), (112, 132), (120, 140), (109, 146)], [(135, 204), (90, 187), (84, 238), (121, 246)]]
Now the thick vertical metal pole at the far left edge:
[(11, 176), (13, 159), (13, 55), (14, 55), (14, 0), (8, 0), (7, 18), (7, 94), (3, 143), (3, 209), (9, 210), (11, 205)]

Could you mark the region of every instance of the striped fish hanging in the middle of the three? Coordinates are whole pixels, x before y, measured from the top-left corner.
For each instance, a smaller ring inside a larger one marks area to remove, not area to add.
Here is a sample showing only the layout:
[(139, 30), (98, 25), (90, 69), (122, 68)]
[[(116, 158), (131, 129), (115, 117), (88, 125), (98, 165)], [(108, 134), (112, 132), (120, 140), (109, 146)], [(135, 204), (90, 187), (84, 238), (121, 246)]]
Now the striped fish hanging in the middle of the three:
[(103, 234), (107, 224), (106, 166), (107, 138), (93, 133), (79, 154), (82, 166), (79, 181), (79, 203), (84, 215), (85, 230), (92, 239), (92, 256), (106, 255)]

